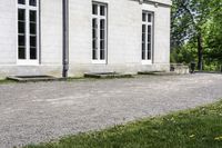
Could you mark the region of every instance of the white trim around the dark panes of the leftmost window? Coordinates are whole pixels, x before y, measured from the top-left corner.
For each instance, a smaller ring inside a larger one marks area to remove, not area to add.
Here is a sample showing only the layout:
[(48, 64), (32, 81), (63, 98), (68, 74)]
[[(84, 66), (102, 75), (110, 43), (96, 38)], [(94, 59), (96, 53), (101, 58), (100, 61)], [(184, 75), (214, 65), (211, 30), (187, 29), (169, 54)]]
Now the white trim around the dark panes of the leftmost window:
[[(39, 0), (37, 0), (37, 6), (32, 7), (29, 6), (29, 0), (26, 0), (26, 4), (19, 4), (18, 0), (16, 0), (16, 6), (17, 6), (17, 65), (20, 66), (39, 66), (40, 62), (40, 53), (39, 53), (39, 36), (40, 36), (40, 30), (39, 30)], [(26, 57), (27, 59), (19, 59), (19, 42), (18, 42), (18, 10), (19, 9), (24, 9), (26, 10)], [(34, 10), (37, 11), (37, 59), (30, 59), (30, 29), (29, 29), (29, 11)]]

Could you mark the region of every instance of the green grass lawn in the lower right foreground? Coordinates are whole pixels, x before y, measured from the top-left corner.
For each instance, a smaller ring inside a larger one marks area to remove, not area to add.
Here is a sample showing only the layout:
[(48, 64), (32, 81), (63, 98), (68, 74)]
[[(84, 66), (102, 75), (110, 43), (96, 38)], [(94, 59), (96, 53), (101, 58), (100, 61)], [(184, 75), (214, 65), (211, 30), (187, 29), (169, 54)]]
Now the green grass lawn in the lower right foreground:
[(222, 101), (24, 148), (222, 148)]

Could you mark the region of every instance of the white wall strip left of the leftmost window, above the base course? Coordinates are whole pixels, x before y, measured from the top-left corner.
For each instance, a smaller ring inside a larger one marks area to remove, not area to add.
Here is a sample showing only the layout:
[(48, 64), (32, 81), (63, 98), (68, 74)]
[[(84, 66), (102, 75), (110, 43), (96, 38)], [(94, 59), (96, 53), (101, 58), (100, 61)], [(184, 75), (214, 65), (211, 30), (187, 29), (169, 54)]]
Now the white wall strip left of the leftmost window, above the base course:
[(17, 9), (14, 0), (0, 0), (0, 65), (17, 62)]

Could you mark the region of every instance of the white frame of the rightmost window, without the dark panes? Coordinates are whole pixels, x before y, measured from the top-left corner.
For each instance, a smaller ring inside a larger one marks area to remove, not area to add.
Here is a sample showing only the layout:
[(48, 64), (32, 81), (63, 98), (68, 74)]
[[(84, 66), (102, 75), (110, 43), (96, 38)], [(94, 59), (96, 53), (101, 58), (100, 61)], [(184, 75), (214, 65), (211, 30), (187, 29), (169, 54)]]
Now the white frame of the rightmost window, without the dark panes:
[[(145, 21), (143, 21), (143, 13), (145, 13)], [(151, 14), (151, 21), (148, 21), (149, 19), (149, 14)], [(143, 59), (143, 26), (145, 26), (145, 39), (144, 39), (144, 45), (145, 45), (145, 52), (144, 56), (145, 58)], [(148, 57), (148, 27), (151, 27), (151, 37), (150, 37), (150, 58)], [(141, 60), (142, 60), (142, 65), (152, 65), (153, 63), (153, 53), (154, 53), (154, 12), (152, 11), (147, 11), (143, 10), (142, 11), (142, 28), (141, 28)]]

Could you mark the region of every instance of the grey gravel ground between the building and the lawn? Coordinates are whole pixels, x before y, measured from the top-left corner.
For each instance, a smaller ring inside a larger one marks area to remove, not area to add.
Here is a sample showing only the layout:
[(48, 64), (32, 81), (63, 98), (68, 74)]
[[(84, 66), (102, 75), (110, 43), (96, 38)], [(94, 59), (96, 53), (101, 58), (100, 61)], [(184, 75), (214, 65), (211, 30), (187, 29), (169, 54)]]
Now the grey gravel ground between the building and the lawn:
[(48, 141), (222, 98), (222, 75), (0, 85), (0, 148)]

